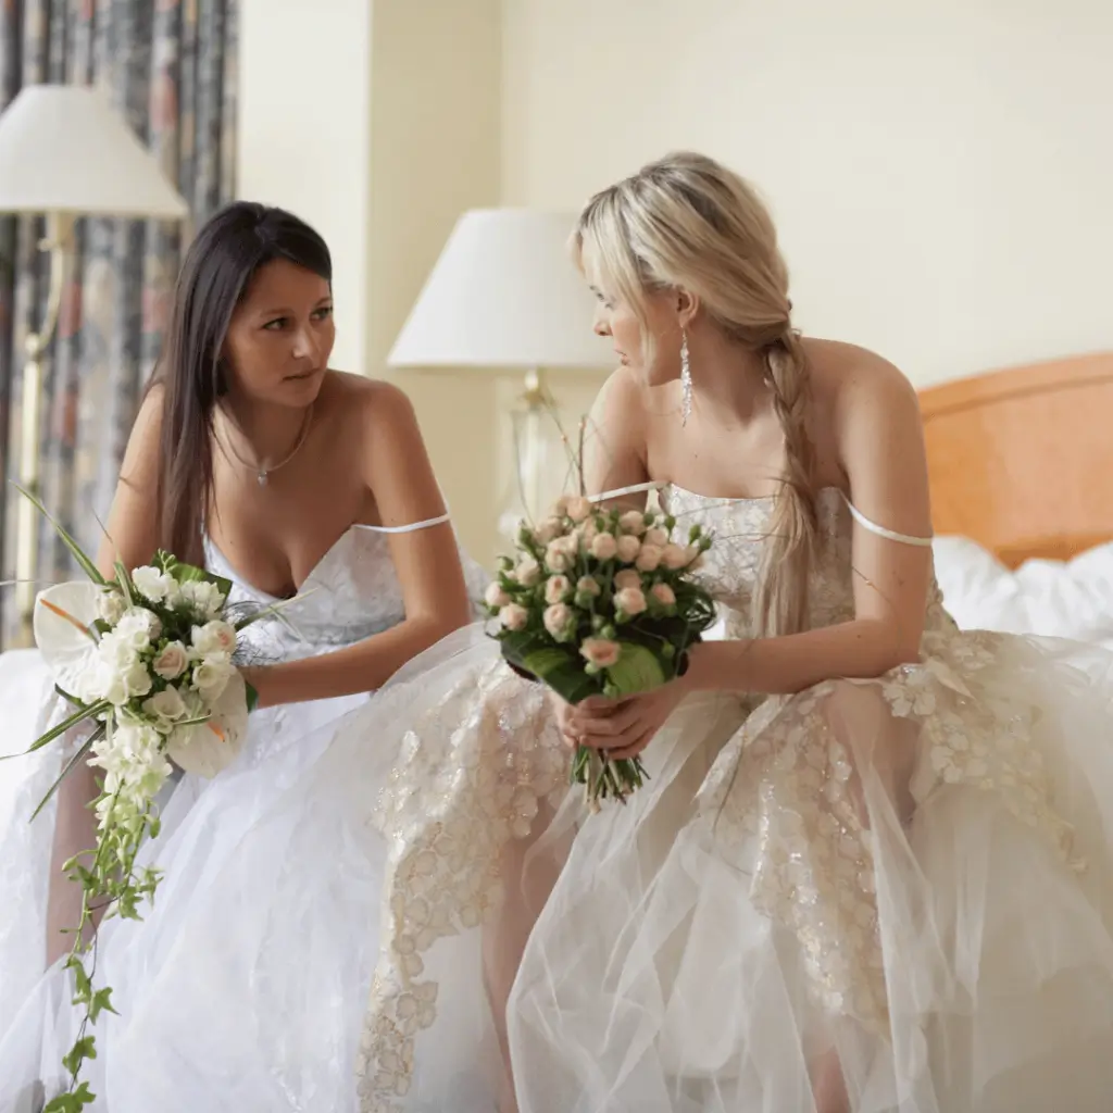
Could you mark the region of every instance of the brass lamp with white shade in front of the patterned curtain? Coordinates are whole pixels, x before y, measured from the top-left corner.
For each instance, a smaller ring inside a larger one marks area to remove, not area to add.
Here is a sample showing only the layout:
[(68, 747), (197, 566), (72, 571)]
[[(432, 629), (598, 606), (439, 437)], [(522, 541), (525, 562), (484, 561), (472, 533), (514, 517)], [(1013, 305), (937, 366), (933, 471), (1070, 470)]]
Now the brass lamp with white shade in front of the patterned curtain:
[[(155, 157), (93, 88), (32, 85), (0, 115), (0, 213), (46, 217), (47, 308), (27, 337), (19, 404), (19, 477), (39, 493), (42, 361), (53, 338), (73, 224), (81, 216), (180, 220), (188, 206)], [(38, 577), (38, 512), (19, 500), (16, 523), (20, 640), (30, 641)]]

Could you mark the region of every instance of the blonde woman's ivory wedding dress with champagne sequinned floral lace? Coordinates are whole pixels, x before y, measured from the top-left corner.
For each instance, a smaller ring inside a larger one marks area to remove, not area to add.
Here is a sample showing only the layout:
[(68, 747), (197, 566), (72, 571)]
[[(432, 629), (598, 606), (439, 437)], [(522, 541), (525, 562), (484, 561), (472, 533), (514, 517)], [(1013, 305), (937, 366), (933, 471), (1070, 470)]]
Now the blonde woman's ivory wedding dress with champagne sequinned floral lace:
[[(700, 574), (745, 636), (770, 504), (661, 498), (715, 535)], [(886, 531), (837, 491), (818, 509), (827, 626), (854, 530)], [(933, 584), (919, 663), (691, 698), (594, 815), (542, 690), (477, 631), (380, 700), (302, 788), (397, 752), (351, 817), (390, 851), (363, 1113), (1111, 1109), (1106, 652), (959, 632)]]

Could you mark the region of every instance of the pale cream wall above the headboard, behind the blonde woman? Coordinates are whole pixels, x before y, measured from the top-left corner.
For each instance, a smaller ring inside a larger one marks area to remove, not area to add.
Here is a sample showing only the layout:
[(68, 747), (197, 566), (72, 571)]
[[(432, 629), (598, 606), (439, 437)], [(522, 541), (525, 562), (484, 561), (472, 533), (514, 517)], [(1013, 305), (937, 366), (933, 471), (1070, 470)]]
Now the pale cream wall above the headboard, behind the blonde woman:
[(917, 382), (1113, 347), (1109, 0), (506, 0), (504, 197), (670, 148), (772, 204), (806, 331)]

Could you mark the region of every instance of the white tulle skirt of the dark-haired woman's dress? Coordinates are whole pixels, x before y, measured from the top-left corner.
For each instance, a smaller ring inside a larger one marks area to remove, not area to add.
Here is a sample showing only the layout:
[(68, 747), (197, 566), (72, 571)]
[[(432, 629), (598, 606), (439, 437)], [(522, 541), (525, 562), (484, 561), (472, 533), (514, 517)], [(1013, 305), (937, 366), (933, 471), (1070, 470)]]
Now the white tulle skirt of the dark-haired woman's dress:
[[(258, 712), (253, 730), (266, 732), (268, 760), (245, 752), (214, 780), (185, 777), (170, 791), (162, 833), (142, 851), (165, 873), (155, 905), (141, 922), (105, 922), (98, 937), (96, 979), (114, 987), (119, 1016), (102, 1016), (95, 1030), (99, 1054), (83, 1076), (100, 1099), (96, 1110), (344, 1107), (333, 1097), (353, 1089), (351, 1026), (367, 992), (358, 958), (373, 943), (364, 925), (381, 876), (368, 871), (364, 848), (356, 866), (345, 856), (328, 800), (284, 810), (249, 863), (238, 848), (319, 758), (343, 705), (359, 703), (366, 697)], [(295, 840), (312, 857), (292, 855)], [(317, 868), (298, 870), (307, 861)], [(43, 939), (35, 940), (39, 971)], [(37, 1084), (48, 1096), (61, 1087), (78, 1020), (69, 996), (69, 978), (55, 967), (7, 1026), (4, 1113), (37, 1110)]]

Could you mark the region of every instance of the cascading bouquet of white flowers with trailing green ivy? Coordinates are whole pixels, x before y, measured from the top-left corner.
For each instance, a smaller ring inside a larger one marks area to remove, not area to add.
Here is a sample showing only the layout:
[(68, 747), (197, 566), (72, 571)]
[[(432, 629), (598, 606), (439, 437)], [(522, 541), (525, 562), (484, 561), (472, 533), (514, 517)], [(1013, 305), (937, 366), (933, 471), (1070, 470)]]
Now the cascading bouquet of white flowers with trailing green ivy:
[(158, 836), (156, 797), (173, 772), (171, 761), (187, 772), (213, 777), (238, 754), (254, 692), (233, 662), (239, 630), (262, 613), (237, 619), (227, 604), (228, 581), (166, 552), (131, 571), (117, 563), (108, 580), (53, 524), (88, 579), (48, 588), (36, 600), (36, 642), (56, 691), (71, 710), (28, 752), (75, 728), (83, 726), (88, 732), (79, 735), (76, 751), (32, 818), (82, 760), (102, 776), (93, 802), (97, 845), (65, 866), (83, 893), (66, 965), (73, 971), (73, 1003), (85, 1008), (85, 1017), (62, 1060), (68, 1092), (53, 1097), (42, 1113), (80, 1113), (95, 1100), (88, 1083), (78, 1084), (83, 1061), (96, 1057), (88, 1027), (102, 1012), (115, 1011), (111, 989), (92, 985), (96, 944), (88, 943), (88, 928), (98, 909), (138, 919), (140, 902), (154, 896), (159, 871), (138, 867), (136, 859), (144, 838)]

